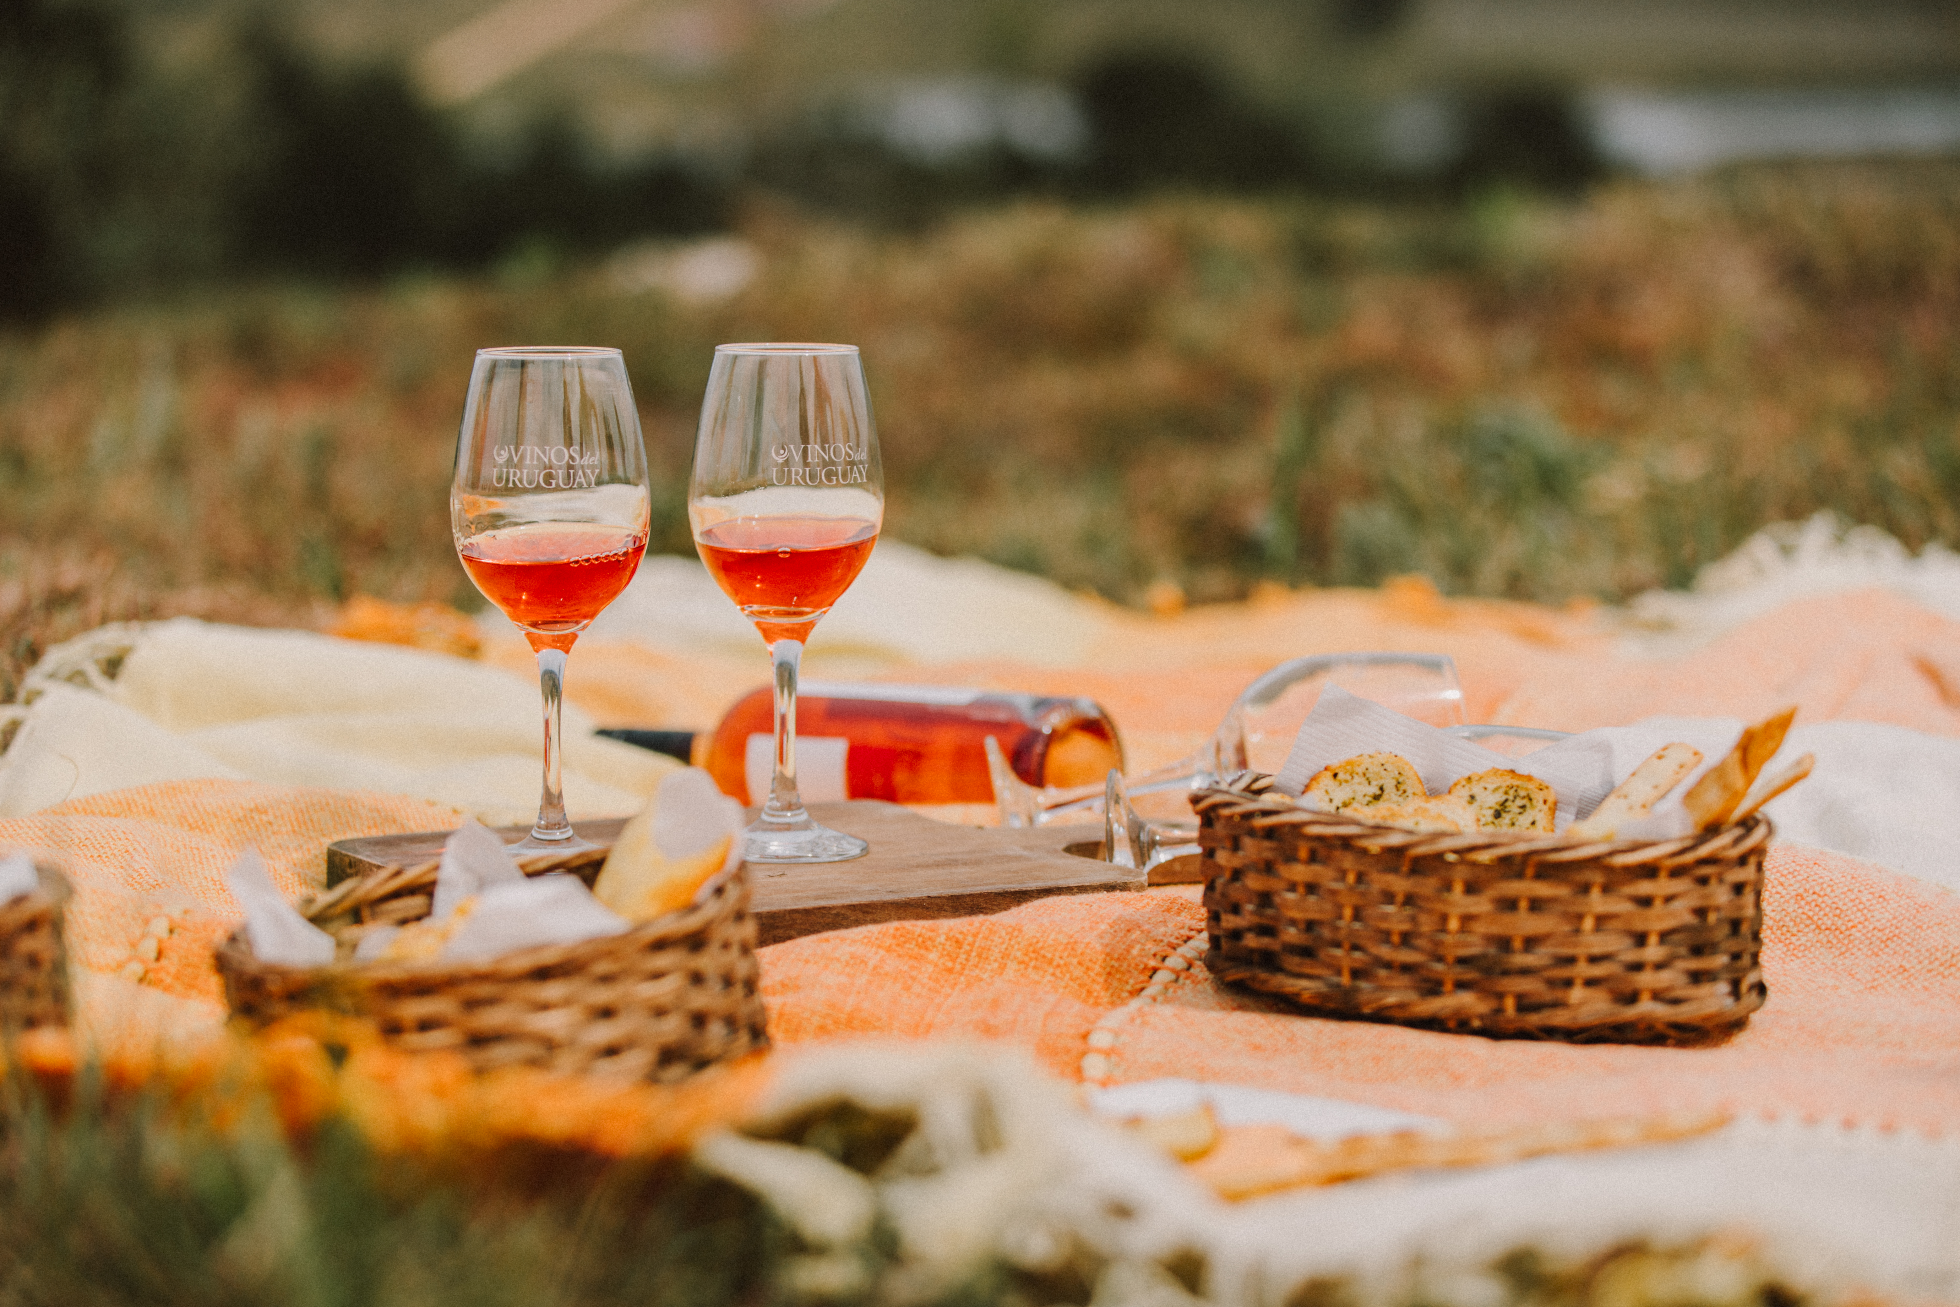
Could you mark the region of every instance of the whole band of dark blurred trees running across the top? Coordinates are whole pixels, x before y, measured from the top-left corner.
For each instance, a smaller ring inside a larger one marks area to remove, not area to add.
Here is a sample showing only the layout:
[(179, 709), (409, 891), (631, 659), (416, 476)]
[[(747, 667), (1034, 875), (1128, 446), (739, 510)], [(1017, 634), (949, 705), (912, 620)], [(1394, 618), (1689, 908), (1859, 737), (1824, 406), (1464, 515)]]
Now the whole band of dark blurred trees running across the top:
[[(1027, 194), (1384, 180), (1321, 159), (1303, 121), (1190, 51), (1119, 43), (1058, 84), (817, 80), (739, 129), (704, 108), (717, 139), (621, 149), (576, 86), (484, 123), (482, 108), (443, 106), (402, 51), (319, 49), (292, 8), (178, 0), (159, 16), (12, 0), (0, 12), (0, 255), (18, 270), (0, 280), (0, 314), (35, 319), (239, 276), (549, 265), (727, 229), (757, 190), (917, 229)], [(1586, 180), (1597, 161), (1568, 116), (1550, 94), (1480, 100), (1462, 159), (1429, 180)]]

